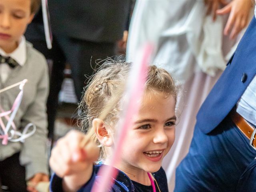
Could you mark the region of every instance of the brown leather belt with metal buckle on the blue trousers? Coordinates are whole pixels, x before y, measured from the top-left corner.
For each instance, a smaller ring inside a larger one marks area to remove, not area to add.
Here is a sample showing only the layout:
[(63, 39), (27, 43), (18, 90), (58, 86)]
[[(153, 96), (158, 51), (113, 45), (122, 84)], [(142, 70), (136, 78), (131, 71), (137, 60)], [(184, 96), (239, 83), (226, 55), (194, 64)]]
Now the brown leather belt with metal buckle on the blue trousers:
[(256, 129), (236, 112), (235, 107), (231, 110), (229, 116), (238, 129), (250, 140), (250, 146), (256, 150)]

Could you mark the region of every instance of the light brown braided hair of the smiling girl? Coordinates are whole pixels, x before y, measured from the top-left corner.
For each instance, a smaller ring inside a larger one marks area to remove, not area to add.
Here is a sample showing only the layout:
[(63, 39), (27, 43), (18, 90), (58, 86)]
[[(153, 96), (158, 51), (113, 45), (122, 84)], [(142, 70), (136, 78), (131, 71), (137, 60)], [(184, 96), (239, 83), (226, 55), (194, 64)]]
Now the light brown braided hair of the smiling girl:
[[(98, 118), (108, 104), (108, 101), (113, 97), (118, 97), (117, 103), (106, 114), (104, 126), (110, 132), (114, 133), (114, 126), (118, 120), (118, 113), (120, 112), (122, 94), (117, 94), (120, 90), (124, 90), (124, 86), (130, 72), (131, 63), (122, 61), (107, 61), (105, 62), (92, 76), (90, 84), (87, 86), (86, 92), (80, 102), (80, 112), (82, 112), (81, 126), (85, 132), (92, 136), (97, 144), (100, 144), (94, 130), (92, 130), (92, 120)], [(178, 94), (178, 87), (176, 86), (172, 76), (164, 69), (156, 66), (148, 66), (148, 73), (146, 78), (145, 90), (153, 94), (159, 92), (166, 95), (174, 96), (175, 100)], [(104, 147), (100, 149), (100, 159), (105, 159)]]

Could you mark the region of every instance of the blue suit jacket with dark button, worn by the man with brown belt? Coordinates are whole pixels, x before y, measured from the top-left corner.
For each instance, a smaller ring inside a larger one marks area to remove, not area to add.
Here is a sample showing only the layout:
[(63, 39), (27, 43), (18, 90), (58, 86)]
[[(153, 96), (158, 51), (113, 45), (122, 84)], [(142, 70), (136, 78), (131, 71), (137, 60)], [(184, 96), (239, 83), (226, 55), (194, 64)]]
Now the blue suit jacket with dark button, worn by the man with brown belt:
[(227, 64), (222, 76), (202, 104), (196, 126), (211, 132), (228, 115), (256, 74), (256, 19), (248, 29)]

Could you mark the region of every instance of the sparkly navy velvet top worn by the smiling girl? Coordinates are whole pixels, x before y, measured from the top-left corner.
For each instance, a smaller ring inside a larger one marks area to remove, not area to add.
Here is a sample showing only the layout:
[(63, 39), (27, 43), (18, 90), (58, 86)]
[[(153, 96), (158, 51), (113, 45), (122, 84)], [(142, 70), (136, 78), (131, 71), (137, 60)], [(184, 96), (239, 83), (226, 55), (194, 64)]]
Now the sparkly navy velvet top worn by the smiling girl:
[[(98, 176), (97, 174), (101, 166), (106, 166), (106, 165), (94, 165), (94, 171), (93, 171), (92, 177), (86, 184), (84, 184), (84, 186), (82, 186), (82, 188), (80, 188), (80, 190), (78, 190), (78, 192), (90, 192), (94, 181), (100, 179), (100, 176)], [(153, 173), (153, 176), (156, 179), (161, 192), (168, 192), (166, 174), (163, 168), (161, 167), (160, 170)], [(56, 174), (54, 174), (51, 178), (50, 191), (51, 192), (63, 191), (62, 178), (59, 178)], [(157, 185), (156, 185), (156, 191), (159, 192)], [(124, 172), (118, 170), (118, 176), (114, 180), (114, 184), (110, 192), (153, 192), (153, 188), (152, 186), (142, 185), (138, 182), (130, 180), (130, 178)]]

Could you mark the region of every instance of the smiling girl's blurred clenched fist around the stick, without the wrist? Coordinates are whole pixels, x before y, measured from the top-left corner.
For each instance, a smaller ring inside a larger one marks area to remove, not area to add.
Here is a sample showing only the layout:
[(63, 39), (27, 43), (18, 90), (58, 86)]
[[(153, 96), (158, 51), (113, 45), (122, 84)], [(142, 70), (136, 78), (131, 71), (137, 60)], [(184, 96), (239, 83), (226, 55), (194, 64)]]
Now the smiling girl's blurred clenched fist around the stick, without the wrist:
[[(86, 146), (81, 143), (88, 140)], [(58, 140), (52, 149), (50, 166), (61, 178), (77, 172), (85, 171), (99, 156), (99, 148), (93, 140), (78, 131), (69, 132), (64, 138)]]

